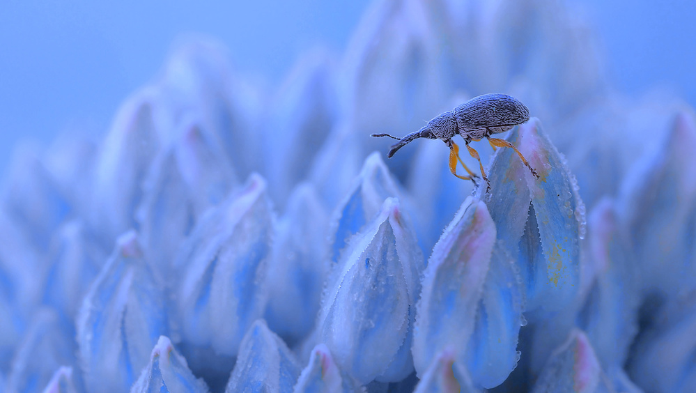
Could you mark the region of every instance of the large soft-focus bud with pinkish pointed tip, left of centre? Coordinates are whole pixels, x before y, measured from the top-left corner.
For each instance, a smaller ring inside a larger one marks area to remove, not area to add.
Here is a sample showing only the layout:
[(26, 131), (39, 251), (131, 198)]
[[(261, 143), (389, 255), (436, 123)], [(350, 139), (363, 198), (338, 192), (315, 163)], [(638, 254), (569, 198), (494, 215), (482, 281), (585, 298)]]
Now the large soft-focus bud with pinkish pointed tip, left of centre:
[(272, 228), (265, 180), (256, 174), (199, 219), (176, 262), (183, 341), (219, 355), (237, 354), (245, 332), (265, 310)]

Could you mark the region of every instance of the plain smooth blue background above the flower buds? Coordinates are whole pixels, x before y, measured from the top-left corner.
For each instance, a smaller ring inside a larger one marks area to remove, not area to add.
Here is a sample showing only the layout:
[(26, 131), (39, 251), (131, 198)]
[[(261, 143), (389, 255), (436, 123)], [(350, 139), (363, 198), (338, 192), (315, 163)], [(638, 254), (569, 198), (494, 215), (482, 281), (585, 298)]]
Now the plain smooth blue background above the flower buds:
[[(696, 105), (696, 1), (569, 2), (598, 31), (614, 87), (630, 95), (666, 90)], [(47, 144), (65, 131), (101, 139), (119, 104), (153, 79), (182, 34), (219, 39), (236, 72), (272, 91), (307, 49), (343, 53), (369, 3), (3, 1), (0, 174), (20, 139)]]

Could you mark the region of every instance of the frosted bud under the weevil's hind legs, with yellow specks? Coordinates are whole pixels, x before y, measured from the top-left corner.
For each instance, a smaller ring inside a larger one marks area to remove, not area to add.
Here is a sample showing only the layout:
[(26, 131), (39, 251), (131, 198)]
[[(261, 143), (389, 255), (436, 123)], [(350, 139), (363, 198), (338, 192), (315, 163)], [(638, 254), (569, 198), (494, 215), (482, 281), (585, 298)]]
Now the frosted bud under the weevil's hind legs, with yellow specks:
[(491, 194), (485, 201), (498, 238), (511, 255), (518, 255), (527, 311), (558, 311), (578, 293), (585, 205), (538, 119), (520, 125), (508, 139), (540, 178), (532, 176), (511, 148), (500, 148), (488, 174)]

